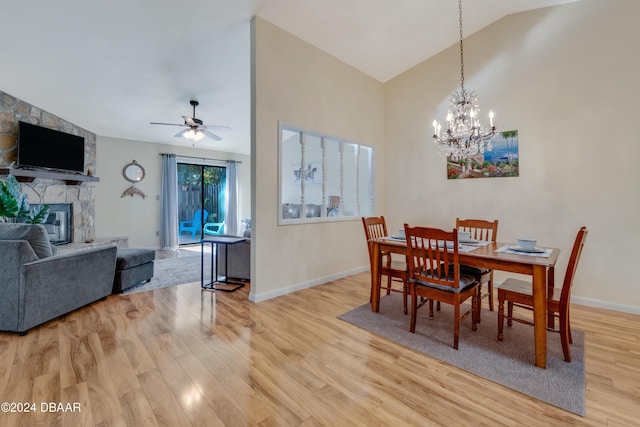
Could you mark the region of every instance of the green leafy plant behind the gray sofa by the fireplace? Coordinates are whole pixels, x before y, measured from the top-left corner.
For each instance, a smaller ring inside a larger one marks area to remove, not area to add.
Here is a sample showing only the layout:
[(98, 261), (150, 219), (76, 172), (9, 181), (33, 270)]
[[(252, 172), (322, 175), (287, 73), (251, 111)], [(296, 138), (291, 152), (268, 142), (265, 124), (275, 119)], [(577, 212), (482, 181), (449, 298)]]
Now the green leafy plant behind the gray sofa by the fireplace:
[(42, 224), (48, 215), (47, 205), (29, 209), (28, 197), (20, 191), (20, 183), (13, 175), (0, 181), (0, 221)]

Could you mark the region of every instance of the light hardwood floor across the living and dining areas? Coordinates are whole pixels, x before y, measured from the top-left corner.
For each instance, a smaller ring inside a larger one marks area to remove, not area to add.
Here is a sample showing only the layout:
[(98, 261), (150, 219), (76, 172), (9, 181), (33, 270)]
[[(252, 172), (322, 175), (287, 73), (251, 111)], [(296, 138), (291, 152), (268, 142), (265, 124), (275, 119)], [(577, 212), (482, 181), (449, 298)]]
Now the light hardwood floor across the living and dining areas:
[(24, 337), (0, 333), (0, 401), (37, 405), (0, 425), (638, 425), (640, 316), (573, 307), (583, 418), (337, 319), (369, 300), (369, 277), (260, 304), (199, 284), (112, 295)]

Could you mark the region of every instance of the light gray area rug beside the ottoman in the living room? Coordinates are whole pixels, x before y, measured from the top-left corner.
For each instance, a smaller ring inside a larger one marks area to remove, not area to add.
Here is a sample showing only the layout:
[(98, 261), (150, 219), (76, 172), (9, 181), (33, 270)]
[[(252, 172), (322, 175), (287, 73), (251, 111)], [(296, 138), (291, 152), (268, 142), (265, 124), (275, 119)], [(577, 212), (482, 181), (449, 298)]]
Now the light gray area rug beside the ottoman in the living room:
[[(205, 280), (211, 277), (210, 255), (206, 254), (204, 263)], [(200, 283), (200, 253), (193, 252), (176, 258), (156, 259), (153, 262), (153, 278), (125, 290), (124, 294), (145, 292), (154, 289), (177, 286), (185, 283)]]

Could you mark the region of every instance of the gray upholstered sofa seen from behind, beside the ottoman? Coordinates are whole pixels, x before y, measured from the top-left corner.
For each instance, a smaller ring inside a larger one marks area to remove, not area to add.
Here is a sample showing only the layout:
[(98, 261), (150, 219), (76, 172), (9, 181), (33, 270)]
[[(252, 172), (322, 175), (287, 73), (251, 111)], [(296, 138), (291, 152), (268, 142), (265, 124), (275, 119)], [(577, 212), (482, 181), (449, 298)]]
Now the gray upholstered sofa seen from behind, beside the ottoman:
[(116, 247), (54, 255), (42, 225), (0, 223), (0, 330), (26, 333), (111, 294)]

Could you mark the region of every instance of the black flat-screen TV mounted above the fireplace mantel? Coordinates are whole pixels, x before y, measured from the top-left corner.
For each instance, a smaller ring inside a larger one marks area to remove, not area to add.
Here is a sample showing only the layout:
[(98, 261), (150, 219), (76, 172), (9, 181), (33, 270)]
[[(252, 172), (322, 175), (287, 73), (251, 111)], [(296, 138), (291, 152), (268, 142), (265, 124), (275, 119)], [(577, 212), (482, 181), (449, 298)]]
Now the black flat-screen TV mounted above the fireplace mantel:
[(83, 173), (84, 138), (21, 121), (18, 166)]

